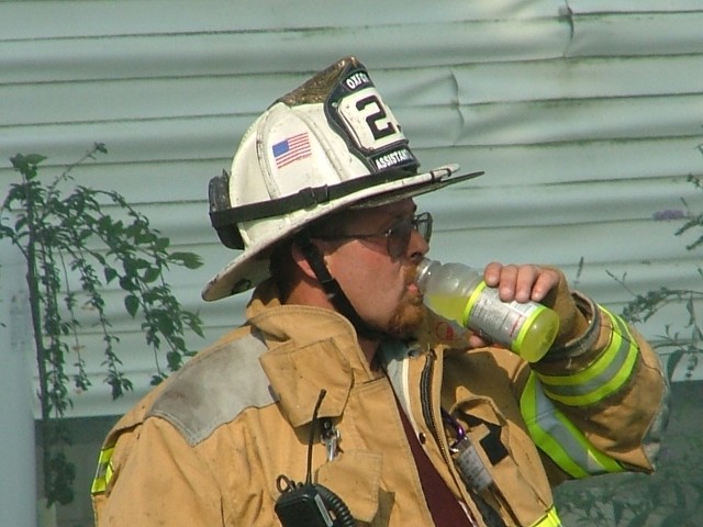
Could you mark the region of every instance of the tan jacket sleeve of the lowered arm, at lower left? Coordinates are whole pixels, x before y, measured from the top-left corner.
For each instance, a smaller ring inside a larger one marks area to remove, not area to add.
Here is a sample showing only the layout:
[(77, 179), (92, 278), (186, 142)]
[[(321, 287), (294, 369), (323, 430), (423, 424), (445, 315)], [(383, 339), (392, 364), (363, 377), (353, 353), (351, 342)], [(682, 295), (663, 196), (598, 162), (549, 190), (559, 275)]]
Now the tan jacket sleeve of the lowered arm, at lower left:
[(92, 490), (96, 526), (223, 525), (217, 485), (182, 436), (157, 417), (123, 425), (101, 452)]

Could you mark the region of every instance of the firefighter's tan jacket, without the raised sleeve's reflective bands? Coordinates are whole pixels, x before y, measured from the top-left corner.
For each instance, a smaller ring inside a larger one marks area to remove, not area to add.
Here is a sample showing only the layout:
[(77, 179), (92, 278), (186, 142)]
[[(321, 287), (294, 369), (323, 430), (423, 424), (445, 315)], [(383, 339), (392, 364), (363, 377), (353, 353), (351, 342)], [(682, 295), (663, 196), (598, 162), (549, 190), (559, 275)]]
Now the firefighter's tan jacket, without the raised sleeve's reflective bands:
[[(505, 525), (547, 525), (539, 520), (553, 506), (550, 483), (568, 474), (529, 436), (521, 404), (532, 369), (515, 355), (459, 350), (462, 336), (428, 316), (417, 343), (384, 346), (386, 366), (371, 369), (345, 318), (316, 307), (282, 306), (266, 287), (255, 294), (247, 318), (115, 425), (93, 485), (98, 527), (280, 525), (274, 511), (281, 494), (277, 479), (304, 481), (310, 423), (323, 389), (319, 415), (332, 418), (338, 450), (327, 461), (315, 437), (313, 481), (342, 497), (358, 525), (434, 525), (397, 401), (475, 518), (480, 518), (476, 498), (449, 460), (439, 408), (453, 413), (477, 445), (498, 429), (509, 455), (494, 466), (486, 462), (494, 484), (481, 502), (498, 509)], [(593, 362), (612, 340), (607, 323), (600, 332), (583, 363)], [(657, 426), (666, 388), (641, 340), (636, 361), (632, 379), (607, 400), (589, 408), (560, 407), (620, 466), (650, 471), (655, 447), (644, 446), (652, 440), (645, 437)], [(579, 367), (550, 363), (545, 371), (567, 369)]]

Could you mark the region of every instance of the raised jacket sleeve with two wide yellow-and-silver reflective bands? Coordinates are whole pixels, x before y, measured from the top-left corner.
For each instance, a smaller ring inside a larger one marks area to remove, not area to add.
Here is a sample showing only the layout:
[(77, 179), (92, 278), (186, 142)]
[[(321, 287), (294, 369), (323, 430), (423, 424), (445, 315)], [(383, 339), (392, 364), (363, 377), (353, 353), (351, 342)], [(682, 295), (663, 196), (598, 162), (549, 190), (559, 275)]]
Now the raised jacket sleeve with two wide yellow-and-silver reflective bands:
[(589, 324), (521, 373), (521, 413), (553, 483), (651, 472), (668, 415), (656, 354), (620, 316), (576, 293)]

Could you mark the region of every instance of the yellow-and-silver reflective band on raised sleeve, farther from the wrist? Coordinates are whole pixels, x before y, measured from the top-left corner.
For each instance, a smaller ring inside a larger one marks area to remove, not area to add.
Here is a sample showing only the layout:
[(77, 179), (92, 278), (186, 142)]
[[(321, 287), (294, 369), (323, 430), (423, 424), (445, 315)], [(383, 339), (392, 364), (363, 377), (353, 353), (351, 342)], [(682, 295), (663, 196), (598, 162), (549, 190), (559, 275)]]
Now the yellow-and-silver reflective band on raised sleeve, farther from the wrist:
[(621, 464), (595, 449), (583, 433), (545, 395), (537, 377), (531, 373), (520, 410), (535, 445), (571, 478), (621, 472)]

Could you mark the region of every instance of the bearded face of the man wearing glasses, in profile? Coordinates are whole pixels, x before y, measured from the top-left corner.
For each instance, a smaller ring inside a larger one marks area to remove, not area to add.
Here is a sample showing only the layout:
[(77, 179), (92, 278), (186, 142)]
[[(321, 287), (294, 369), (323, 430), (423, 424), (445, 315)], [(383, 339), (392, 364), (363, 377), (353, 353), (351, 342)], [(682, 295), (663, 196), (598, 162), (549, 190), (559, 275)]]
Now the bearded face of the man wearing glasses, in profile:
[[(319, 242), (330, 272), (359, 316), (372, 327), (395, 337), (409, 336), (422, 322), (422, 294), (414, 283), (419, 261), (429, 249), (415, 229), (399, 253), (383, 234), (399, 221), (412, 220), (415, 203), (408, 199), (353, 212), (338, 234), (348, 238)], [(372, 234), (375, 236), (364, 236)], [(362, 237), (355, 238), (354, 235)]]

